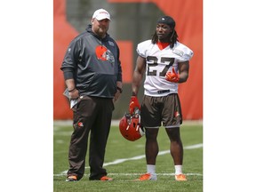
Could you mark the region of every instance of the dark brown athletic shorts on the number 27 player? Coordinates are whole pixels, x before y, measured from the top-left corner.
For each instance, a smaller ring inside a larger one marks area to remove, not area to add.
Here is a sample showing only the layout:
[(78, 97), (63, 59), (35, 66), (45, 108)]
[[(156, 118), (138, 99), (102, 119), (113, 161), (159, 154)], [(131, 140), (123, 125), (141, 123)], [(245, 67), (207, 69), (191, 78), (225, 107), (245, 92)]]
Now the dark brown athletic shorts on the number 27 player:
[[(180, 98), (177, 93), (164, 97), (144, 95), (141, 102), (141, 123), (146, 128), (180, 127), (182, 113)], [(162, 124), (163, 123), (163, 124)]]

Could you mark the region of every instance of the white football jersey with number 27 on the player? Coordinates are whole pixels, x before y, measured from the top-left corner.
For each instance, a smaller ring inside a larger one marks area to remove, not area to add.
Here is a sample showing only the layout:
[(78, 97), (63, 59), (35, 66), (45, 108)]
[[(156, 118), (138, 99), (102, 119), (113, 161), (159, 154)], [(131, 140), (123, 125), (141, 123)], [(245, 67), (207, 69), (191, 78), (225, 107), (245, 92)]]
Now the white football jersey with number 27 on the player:
[(146, 78), (144, 82), (145, 95), (162, 97), (170, 93), (178, 93), (178, 83), (165, 80), (165, 74), (178, 72), (178, 63), (190, 60), (193, 51), (186, 45), (177, 42), (173, 48), (169, 46), (160, 50), (151, 40), (144, 41), (137, 46), (138, 54), (146, 59)]

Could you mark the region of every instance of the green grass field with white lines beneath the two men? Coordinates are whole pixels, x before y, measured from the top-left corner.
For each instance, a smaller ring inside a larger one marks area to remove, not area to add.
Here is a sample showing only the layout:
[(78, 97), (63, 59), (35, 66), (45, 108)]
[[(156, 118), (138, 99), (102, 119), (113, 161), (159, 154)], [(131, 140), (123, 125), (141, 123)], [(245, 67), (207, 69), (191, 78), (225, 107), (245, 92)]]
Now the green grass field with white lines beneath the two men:
[(78, 182), (65, 182), (68, 171), (68, 144), (72, 133), (70, 124), (54, 123), (53, 133), (53, 191), (203, 191), (203, 125), (184, 123), (181, 139), (184, 147), (183, 172), (188, 181), (174, 180), (174, 167), (169, 153), (169, 140), (161, 127), (158, 134), (159, 154), (156, 159), (156, 181), (133, 181), (146, 172), (145, 137), (137, 141), (124, 140), (118, 126), (109, 134), (104, 167), (113, 181), (89, 181), (88, 156), (85, 174)]

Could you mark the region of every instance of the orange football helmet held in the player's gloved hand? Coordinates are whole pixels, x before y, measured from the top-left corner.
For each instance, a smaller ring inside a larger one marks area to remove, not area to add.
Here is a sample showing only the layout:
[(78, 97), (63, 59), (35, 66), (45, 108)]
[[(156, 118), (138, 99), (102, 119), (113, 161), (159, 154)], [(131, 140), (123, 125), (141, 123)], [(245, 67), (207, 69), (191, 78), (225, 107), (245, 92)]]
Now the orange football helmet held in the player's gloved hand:
[(119, 130), (126, 140), (139, 140), (145, 134), (140, 125), (140, 114), (125, 114), (120, 120)]

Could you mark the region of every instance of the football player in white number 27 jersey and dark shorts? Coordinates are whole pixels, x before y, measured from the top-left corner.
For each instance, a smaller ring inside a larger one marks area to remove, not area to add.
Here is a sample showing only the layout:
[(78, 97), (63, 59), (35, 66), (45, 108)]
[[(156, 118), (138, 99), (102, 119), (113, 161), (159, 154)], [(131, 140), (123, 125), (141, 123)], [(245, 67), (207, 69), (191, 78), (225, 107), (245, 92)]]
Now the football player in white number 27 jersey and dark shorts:
[[(134, 113), (134, 108), (140, 108), (141, 124), (146, 129), (147, 161), (147, 173), (138, 180), (157, 180), (156, 156), (159, 149), (156, 138), (162, 125), (170, 139), (175, 180), (187, 180), (182, 172), (182, 113), (178, 86), (188, 80), (189, 60), (193, 51), (179, 42), (172, 17), (164, 16), (157, 20), (152, 39), (138, 44), (137, 52), (139, 56), (133, 72), (130, 114)], [(144, 74), (145, 91), (140, 106), (137, 94)]]

